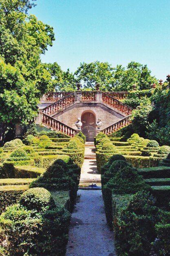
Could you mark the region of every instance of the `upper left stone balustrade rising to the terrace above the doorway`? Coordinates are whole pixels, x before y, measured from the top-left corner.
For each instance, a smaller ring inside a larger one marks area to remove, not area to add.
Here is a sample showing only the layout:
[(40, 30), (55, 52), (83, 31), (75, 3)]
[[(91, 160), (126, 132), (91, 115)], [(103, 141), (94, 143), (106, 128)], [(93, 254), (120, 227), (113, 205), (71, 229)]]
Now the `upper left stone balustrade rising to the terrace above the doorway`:
[(74, 92), (69, 93), (64, 98), (58, 100), (55, 103), (52, 103), (48, 107), (42, 109), (42, 112), (46, 115), (51, 115), (53, 113), (57, 113), (65, 109), (66, 106), (70, 106), (75, 102), (75, 94)]

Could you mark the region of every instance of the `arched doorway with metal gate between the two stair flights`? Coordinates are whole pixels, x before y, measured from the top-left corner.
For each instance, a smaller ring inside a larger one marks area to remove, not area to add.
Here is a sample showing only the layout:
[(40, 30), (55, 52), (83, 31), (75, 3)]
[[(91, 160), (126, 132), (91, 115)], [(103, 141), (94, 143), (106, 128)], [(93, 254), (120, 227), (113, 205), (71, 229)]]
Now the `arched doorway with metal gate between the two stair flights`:
[(84, 112), (81, 117), (82, 132), (86, 136), (86, 141), (93, 142), (96, 135), (96, 118), (92, 112)]

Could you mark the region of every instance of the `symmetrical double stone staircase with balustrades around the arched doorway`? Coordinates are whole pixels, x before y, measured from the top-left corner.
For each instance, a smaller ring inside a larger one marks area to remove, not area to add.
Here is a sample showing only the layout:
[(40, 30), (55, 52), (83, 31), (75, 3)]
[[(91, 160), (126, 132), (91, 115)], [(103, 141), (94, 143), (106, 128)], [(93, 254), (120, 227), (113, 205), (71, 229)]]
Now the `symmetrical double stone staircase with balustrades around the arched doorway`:
[[(113, 116), (116, 116), (117, 119), (119, 118), (117, 122), (111, 122), (110, 120), (110, 126), (99, 130), (108, 135), (130, 124), (132, 108), (120, 101), (121, 99), (126, 99), (127, 95), (128, 92), (47, 92), (41, 99), (39, 117), (36, 119), (36, 124), (41, 124), (51, 130), (64, 132), (73, 137), (79, 130), (59, 121), (58, 117), (61, 113), (64, 113), (69, 108), (78, 108), (82, 104), (84, 109), (89, 109), (89, 106), (94, 107), (98, 104), (105, 106), (113, 113)], [(97, 130), (97, 132), (99, 131)]]

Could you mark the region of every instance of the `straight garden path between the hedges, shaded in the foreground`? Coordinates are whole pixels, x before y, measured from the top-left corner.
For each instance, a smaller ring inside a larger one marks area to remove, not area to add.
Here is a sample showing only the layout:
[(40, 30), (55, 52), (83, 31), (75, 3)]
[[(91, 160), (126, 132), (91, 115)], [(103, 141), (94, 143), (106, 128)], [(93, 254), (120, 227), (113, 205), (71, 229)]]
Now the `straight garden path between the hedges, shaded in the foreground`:
[[(92, 149), (91, 149), (92, 150)], [(95, 159), (86, 159), (91, 153), (85, 150), (81, 181), (100, 182)], [(91, 162), (93, 161), (93, 163)], [(82, 176), (83, 175), (83, 176)], [(79, 190), (77, 204), (72, 213), (66, 256), (116, 256), (113, 232), (110, 231), (104, 213), (101, 190)]]

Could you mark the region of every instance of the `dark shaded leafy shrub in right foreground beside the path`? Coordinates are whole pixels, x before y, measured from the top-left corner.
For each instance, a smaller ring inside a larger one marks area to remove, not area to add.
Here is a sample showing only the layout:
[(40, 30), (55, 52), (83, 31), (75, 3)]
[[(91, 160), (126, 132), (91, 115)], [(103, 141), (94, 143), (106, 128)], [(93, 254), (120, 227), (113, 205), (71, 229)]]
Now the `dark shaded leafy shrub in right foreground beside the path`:
[(148, 256), (156, 238), (158, 220), (155, 198), (139, 191), (114, 216), (115, 245), (118, 255)]

